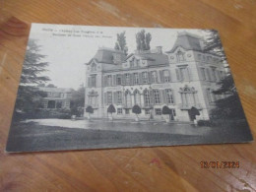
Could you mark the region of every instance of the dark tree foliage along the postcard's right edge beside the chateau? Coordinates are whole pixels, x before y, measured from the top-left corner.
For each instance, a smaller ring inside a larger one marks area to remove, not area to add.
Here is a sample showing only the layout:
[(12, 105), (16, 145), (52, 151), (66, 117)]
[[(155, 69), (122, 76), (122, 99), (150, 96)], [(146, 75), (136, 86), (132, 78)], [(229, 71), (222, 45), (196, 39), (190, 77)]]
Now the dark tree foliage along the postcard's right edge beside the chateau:
[[(219, 55), (224, 64), (226, 64), (224, 47), (219, 33), (215, 30), (208, 30), (205, 32), (207, 32), (205, 51)], [(225, 67), (228, 68), (228, 65), (226, 64)], [(224, 79), (218, 84), (220, 85), (220, 88), (213, 93), (222, 98), (216, 100), (216, 107), (211, 111), (212, 118), (244, 119), (245, 116), (242, 105), (229, 70), (227, 70), (227, 74)]]

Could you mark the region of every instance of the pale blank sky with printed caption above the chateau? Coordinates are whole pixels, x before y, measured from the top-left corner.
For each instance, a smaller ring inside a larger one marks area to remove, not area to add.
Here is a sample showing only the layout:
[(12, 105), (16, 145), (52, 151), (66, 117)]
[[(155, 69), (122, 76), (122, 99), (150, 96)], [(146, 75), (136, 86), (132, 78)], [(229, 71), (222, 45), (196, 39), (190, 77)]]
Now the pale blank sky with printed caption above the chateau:
[(114, 48), (116, 34), (125, 32), (128, 53), (136, 49), (135, 35), (141, 30), (152, 34), (151, 48), (162, 46), (162, 51), (170, 50), (175, 42), (177, 32), (191, 32), (204, 35), (199, 30), (176, 30), (154, 28), (110, 28), (72, 25), (32, 24), (30, 38), (40, 45), (40, 54), (46, 55), (47, 72), (50, 78), (47, 84), (58, 88), (78, 89), (86, 77), (86, 63), (96, 54), (99, 47)]

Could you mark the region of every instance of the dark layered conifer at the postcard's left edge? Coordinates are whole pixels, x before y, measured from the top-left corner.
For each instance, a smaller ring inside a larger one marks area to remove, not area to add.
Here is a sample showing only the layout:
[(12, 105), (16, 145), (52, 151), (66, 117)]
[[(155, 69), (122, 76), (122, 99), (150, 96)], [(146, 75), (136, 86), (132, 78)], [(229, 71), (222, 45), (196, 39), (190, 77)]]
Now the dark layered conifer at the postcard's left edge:
[(43, 75), (48, 63), (43, 61), (45, 55), (39, 52), (40, 46), (36, 40), (30, 39), (16, 100), (16, 111), (22, 110), (28, 115), (32, 115), (35, 108), (41, 107), (41, 98), (45, 96), (36, 86), (49, 81), (49, 78)]

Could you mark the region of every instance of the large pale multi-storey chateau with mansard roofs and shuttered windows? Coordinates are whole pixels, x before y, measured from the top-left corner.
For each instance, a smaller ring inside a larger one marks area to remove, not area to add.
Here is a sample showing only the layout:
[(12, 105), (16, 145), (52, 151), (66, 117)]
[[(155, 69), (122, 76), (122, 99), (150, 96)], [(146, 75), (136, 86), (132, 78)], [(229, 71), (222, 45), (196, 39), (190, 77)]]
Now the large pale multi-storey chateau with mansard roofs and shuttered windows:
[(160, 46), (128, 56), (99, 48), (87, 63), (85, 106), (94, 108), (93, 117), (107, 117), (113, 104), (114, 118), (134, 118), (132, 107), (138, 104), (140, 118), (160, 119), (166, 105), (177, 121), (193, 120), (189, 110), (195, 107), (200, 112), (196, 118), (206, 120), (219, 98), (212, 92), (224, 75), (221, 58), (205, 52), (204, 39), (188, 32), (179, 32), (165, 53)]

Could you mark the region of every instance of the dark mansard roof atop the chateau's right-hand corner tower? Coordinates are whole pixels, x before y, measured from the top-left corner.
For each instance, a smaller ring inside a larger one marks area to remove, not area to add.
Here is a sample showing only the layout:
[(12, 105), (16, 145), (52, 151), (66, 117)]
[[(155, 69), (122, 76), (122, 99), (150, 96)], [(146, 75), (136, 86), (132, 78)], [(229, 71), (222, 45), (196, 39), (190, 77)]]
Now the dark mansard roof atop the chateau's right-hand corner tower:
[(172, 49), (169, 51), (166, 51), (166, 53), (171, 53), (175, 51), (175, 49), (178, 46), (181, 46), (186, 50), (203, 51), (203, 48), (200, 44), (200, 39), (201, 37), (196, 34), (192, 34), (189, 32), (179, 32)]

